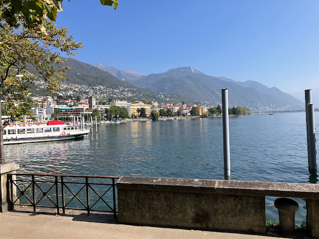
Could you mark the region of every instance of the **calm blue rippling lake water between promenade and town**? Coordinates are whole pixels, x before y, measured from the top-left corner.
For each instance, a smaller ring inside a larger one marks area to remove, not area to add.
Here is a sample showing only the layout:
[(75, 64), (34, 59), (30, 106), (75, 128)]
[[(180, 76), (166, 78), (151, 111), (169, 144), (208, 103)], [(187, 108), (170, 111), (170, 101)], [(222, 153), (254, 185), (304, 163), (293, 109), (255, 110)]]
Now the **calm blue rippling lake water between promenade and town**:
[[(318, 181), (308, 171), (305, 113), (230, 118), (229, 133), (232, 180)], [(224, 179), (221, 118), (100, 124), (84, 140), (4, 145), (4, 155), (19, 172)], [(274, 199), (266, 197), (266, 222), (278, 219)], [(300, 225), (306, 203), (297, 201)]]

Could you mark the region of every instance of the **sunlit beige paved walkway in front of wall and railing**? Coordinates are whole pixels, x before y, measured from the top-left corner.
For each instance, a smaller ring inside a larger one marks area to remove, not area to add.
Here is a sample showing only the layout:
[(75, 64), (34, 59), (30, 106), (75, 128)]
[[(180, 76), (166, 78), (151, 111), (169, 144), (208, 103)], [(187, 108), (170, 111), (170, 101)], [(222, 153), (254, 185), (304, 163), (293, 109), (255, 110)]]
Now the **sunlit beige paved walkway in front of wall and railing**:
[[(113, 215), (0, 213), (1, 239), (276, 239), (278, 235), (211, 232), (118, 224)], [(303, 237), (306, 239), (306, 237)]]

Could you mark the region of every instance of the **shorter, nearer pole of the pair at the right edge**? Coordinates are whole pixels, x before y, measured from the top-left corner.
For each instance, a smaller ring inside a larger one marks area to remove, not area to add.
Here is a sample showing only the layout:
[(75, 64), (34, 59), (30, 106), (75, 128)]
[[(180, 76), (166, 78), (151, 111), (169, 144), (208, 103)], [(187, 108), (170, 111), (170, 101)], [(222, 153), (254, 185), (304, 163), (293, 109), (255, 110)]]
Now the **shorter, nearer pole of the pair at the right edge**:
[(308, 125), (308, 168), (310, 173), (317, 172), (316, 159), (316, 135), (315, 135), (315, 114), (314, 104), (307, 104), (307, 125)]

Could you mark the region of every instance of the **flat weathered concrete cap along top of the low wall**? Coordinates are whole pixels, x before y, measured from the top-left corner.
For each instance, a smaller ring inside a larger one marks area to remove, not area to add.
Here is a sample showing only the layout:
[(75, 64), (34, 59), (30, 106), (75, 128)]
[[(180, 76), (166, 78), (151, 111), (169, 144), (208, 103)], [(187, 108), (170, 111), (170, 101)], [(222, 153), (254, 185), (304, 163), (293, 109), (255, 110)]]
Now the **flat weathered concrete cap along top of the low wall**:
[(319, 184), (302, 183), (121, 177), (117, 182), (117, 188), (314, 199), (319, 197)]

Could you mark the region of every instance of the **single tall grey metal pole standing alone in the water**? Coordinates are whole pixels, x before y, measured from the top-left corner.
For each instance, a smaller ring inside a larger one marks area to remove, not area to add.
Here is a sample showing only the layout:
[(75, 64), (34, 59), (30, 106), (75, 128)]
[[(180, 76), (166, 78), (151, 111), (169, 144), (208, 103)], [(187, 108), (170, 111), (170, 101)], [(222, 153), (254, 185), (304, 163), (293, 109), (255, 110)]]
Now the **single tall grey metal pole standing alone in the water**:
[(224, 176), (226, 180), (230, 180), (228, 89), (221, 89), (221, 103), (223, 119)]

